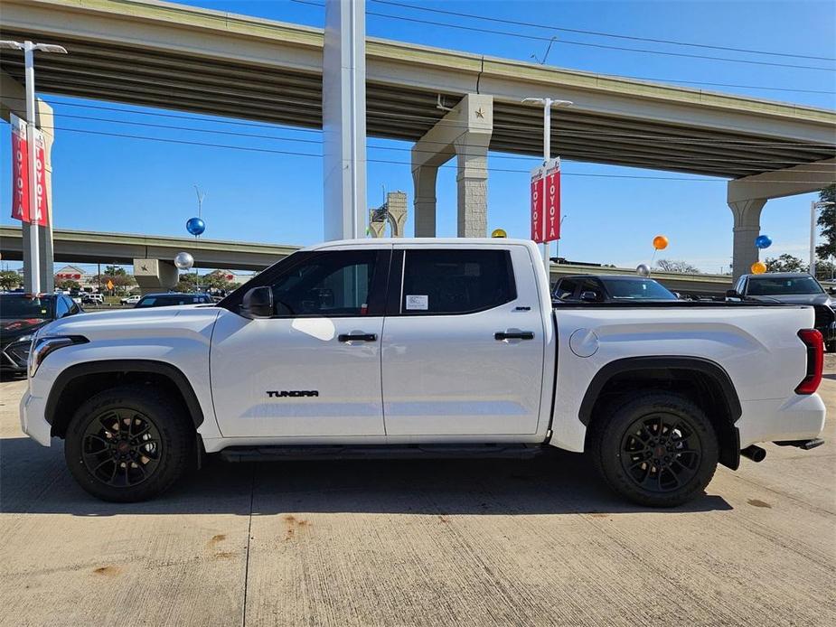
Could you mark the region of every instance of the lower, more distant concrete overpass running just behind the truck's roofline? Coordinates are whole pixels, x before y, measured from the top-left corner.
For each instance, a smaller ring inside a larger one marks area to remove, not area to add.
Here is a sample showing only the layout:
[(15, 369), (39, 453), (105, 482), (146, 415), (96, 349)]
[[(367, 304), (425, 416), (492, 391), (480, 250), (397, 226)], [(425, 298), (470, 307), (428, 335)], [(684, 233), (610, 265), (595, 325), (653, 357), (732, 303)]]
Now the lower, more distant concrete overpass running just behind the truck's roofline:
[[(263, 270), (297, 250), (298, 246), (220, 241), (217, 239), (172, 238), (162, 235), (129, 235), (55, 229), (55, 258), (67, 263), (134, 264), (137, 259), (170, 263), (181, 251), (192, 254), (196, 267), (229, 270)], [(22, 259), (21, 229), (0, 226), (0, 252), (6, 260)], [(630, 268), (583, 264), (552, 264), (551, 282), (561, 276), (607, 274), (635, 276)], [(724, 275), (687, 275), (654, 271), (653, 278), (676, 292), (721, 295), (731, 287)]]

